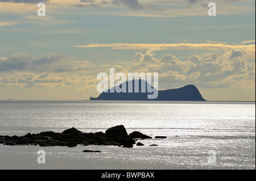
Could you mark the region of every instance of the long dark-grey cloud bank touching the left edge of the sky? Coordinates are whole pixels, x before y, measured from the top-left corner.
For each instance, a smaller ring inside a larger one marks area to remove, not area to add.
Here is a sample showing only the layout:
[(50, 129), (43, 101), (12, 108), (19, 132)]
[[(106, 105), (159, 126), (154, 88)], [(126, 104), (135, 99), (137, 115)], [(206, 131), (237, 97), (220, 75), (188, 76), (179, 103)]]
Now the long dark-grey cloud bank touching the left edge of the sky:
[(68, 72), (88, 70), (88, 61), (72, 61), (63, 55), (36, 58), (30, 54), (0, 57), (0, 71)]

